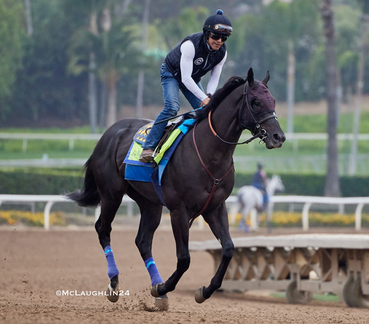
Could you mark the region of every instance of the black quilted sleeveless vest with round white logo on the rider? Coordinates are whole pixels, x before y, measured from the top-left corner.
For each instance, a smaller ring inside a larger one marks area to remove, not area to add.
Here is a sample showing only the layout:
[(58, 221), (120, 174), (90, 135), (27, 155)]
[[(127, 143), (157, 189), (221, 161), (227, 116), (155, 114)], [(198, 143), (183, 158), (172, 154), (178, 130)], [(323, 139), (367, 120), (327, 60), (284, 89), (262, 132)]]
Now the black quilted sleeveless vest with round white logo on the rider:
[(179, 42), (168, 53), (164, 62), (168, 67), (168, 70), (173, 74), (173, 76), (183, 88), (186, 87), (182, 83), (180, 70), (180, 60), (182, 55), (180, 47), (184, 41), (187, 41), (187, 39), (190, 39), (195, 47), (195, 57), (193, 59), (191, 77), (196, 84), (200, 82), (201, 77), (209, 72), (213, 68), (213, 66), (217, 65), (218, 63), (220, 63), (221, 60), (223, 60), (225, 56), (225, 50), (227, 49), (225, 43), (217, 51), (208, 48), (203, 32), (189, 35), (185, 37), (182, 42)]

